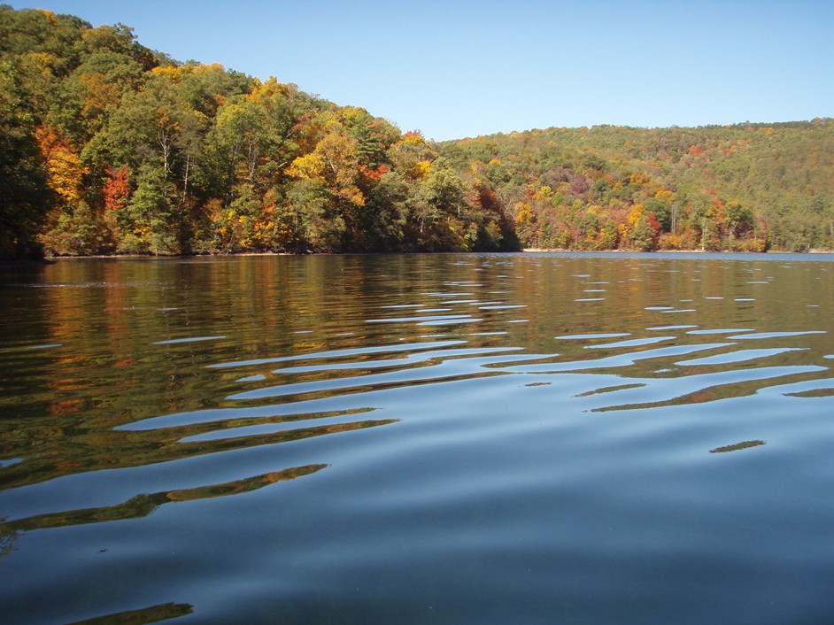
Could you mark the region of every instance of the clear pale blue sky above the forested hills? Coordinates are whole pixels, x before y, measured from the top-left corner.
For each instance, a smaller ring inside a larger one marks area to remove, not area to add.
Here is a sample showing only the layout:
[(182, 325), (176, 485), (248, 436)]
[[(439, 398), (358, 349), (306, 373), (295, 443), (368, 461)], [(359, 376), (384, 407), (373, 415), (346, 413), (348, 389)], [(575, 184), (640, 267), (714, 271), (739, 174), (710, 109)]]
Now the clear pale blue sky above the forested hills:
[(5, 0), (430, 139), (834, 117), (834, 0)]

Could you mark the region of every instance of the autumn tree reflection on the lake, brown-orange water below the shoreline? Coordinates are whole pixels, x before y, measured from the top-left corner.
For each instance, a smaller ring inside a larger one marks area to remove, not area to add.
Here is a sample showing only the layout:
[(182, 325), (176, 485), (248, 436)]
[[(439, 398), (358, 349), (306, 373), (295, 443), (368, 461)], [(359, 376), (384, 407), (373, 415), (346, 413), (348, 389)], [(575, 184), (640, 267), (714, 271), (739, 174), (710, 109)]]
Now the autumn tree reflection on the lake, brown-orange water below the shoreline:
[[(830, 377), (830, 274), (806, 264), (453, 258), (68, 261), (4, 276), (4, 328), (16, 329), (0, 344), (0, 487), (393, 423), (345, 420), (375, 410), (370, 398), (310, 406), (494, 375), (599, 375), (591, 412)], [(668, 313), (696, 322), (658, 323)], [(753, 340), (778, 343), (741, 345)], [(610, 374), (634, 382), (606, 390)]]

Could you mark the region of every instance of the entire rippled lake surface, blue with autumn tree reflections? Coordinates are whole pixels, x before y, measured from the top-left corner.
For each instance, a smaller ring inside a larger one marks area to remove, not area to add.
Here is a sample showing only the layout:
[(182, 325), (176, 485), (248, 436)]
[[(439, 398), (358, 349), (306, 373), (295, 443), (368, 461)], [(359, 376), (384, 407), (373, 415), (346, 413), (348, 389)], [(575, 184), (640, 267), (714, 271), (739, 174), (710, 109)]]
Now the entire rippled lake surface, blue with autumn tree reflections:
[(0, 281), (0, 621), (834, 622), (834, 257)]

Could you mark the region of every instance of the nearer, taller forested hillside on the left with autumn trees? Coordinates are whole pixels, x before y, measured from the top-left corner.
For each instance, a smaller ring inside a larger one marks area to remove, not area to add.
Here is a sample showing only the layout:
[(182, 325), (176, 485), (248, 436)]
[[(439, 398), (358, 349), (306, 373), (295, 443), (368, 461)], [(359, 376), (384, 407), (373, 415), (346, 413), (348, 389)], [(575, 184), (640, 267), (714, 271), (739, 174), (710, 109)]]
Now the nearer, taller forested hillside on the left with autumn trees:
[(0, 98), (3, 256), (518, 245), (421, 135), (127, 27), (0, 7)]

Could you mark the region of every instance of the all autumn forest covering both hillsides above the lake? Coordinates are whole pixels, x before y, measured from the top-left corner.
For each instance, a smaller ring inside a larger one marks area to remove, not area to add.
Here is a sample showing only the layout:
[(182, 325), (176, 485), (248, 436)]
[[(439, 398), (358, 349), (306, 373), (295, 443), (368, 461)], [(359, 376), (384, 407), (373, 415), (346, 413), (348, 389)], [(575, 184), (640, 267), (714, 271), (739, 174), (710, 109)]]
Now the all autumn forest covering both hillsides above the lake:
[(436, 143), (122, 24), (0, 5), (0, 258), (831, 250), (832, 122)]

